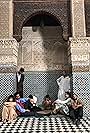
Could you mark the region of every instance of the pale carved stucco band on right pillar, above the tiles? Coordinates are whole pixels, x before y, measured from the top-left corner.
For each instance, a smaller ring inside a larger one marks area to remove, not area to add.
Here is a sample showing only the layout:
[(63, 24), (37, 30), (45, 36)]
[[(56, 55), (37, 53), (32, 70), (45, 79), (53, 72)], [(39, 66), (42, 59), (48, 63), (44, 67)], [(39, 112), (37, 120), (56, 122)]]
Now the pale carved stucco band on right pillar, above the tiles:
[(90, 67), (90, 38), (69, 38), (73, 72), (86, 72)]

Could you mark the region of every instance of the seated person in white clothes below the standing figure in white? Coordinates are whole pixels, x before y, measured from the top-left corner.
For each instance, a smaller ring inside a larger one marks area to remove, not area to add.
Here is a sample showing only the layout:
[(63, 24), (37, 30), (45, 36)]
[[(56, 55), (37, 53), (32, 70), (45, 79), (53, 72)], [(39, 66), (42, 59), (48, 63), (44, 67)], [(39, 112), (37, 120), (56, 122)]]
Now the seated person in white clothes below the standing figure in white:
[(65, 92), (65, 100), (62, 101), (60, 99), (57, 99), (56, 101), (54, 101), (54, 105), (55, 108), (53, 110), (54, 114), (57, 114), (58, 112), (62, 113), (62, 114), (66, 114), (69, 115), (69, 107), (72, 103), (72, 99), (71, 99), (71, 93), (70, 92)]

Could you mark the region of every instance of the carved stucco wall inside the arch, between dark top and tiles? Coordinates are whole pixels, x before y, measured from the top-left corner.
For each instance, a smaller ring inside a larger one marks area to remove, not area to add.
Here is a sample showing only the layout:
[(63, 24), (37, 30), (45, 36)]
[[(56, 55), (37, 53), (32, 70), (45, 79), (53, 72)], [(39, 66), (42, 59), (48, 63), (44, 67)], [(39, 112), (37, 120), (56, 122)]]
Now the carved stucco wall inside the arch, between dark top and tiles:
[(64, 70), (68, 63), (61, 27), (24, 27), (19, 44), (18, 67), (26, 71)]

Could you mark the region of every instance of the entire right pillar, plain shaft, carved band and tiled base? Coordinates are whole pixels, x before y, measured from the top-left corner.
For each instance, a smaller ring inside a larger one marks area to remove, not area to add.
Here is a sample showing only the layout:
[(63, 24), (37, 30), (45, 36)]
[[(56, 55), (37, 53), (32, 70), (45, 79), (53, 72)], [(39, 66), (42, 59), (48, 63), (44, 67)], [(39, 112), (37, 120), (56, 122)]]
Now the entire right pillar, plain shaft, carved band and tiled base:
[(84, 102), (84, 116), (89, 116), (90, 37), (86, 37), (84, 0), (71, 0), (72, 37), (69, 38), (73, 92)]

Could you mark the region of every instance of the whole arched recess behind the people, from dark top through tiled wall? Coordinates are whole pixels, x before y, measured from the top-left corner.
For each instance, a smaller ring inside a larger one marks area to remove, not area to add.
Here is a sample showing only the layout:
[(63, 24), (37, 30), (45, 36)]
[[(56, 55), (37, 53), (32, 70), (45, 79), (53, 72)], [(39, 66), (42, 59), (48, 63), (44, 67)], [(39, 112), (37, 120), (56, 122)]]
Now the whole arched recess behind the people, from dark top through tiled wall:
[(39, 12), (25, 20), (18, 53), (18, 67), (21, 66), (25, 68), (25, 97), (36, 95), (39, 103), (46, 94), (56, 99), (56, 79), (70, 69), (67, 41), (55, 16)]

